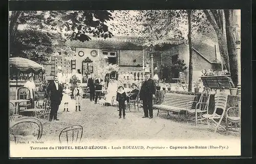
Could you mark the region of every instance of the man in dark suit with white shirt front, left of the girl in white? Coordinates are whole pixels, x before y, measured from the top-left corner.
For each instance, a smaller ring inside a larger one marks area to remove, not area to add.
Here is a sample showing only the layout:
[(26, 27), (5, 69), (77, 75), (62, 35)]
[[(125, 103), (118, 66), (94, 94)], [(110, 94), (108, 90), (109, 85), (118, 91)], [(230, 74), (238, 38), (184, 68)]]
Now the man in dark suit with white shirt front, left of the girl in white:
[(59, 104), (62, 100), (62, 87), (58, 82), (58, 77), (54, 76), (54, 81), (51, 82), (47, 87), (47, 95), (51, 91), (50, 100), (51, 100), (51, 111), (50, 111), (50, 121), (57, 119), (57, 111), (59, 108)]

